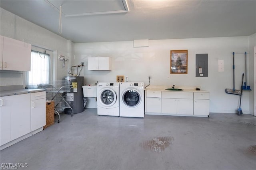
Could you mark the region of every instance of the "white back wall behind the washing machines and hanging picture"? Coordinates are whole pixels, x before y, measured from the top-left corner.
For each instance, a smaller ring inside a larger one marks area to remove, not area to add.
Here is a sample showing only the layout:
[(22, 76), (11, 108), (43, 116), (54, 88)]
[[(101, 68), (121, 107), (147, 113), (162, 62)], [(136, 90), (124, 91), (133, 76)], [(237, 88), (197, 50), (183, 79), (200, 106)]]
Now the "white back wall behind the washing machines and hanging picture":
[[(236, 113), (239, 96), (227, 94), (225, 89), (233, 88), (232, 51), (248, 51), (248, 41), (247, 36), (150, 40), (149, 47), (136, 48), (132, 41), (74, 43), (72, 65), (83, 61), (87, 66), (88, 57), (112, 57), (112, 71), (88, 71), (85, 67), (80, 75), (85, 77), (85, 83), (116, 81), (116, 75), (125, 75), (128, 81), (147, 85), (147, 76), (151, 75), (151, 85), (199, 85), (210, 91), (211, 113)], [(170, 74), (170, 50), (175, 49), (188, 49), (188, 74)], [(208, 77), (195, 77), (198, 53), (208, 53)], [(218, 72), (219, 59), (224, 60), (224, 72)], [(245, 68), (243, 54), (235, 55), (235, 65), (235, 87), (240, 89)], [(249, 92), (244, 92), (241, 108), (243, 113), (249, 113)]]

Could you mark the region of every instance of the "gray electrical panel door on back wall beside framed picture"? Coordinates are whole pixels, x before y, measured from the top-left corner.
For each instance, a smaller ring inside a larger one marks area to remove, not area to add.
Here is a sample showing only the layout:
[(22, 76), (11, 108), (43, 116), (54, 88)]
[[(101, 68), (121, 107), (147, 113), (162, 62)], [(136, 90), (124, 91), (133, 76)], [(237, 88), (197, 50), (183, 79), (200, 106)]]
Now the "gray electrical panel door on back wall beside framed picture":
[(208, 54), (196, 54), (196, 77), (208, 77)]

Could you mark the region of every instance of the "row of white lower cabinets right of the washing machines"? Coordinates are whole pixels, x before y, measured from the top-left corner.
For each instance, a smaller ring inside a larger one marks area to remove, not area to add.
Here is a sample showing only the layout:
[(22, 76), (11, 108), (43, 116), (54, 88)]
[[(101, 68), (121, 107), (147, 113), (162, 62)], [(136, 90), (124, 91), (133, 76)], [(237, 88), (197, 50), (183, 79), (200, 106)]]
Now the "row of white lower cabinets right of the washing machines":
[(146, 113), (152, 115), (209, 116), (209, 92), (146, 91)]

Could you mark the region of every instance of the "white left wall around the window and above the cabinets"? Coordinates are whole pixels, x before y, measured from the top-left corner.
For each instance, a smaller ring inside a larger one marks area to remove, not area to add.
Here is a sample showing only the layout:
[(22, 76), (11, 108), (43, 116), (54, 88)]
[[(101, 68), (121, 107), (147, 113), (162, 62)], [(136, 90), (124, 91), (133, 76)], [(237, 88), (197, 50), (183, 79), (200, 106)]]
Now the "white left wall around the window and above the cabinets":
[[(2, 36), (31, 43), (32, 45), (36, 45), (42, 48), (50, 49), (55, 51), (56, 56), (60, 54), (66, 57), (70, 57), (71, 49), (69, 47), (71, 42), (69, 40), (66, 40), (57, 34), (54, 34), (40, 26), (37, 26), (36, 24), (24, 20), (23, 18), (20, 18), (19, 16), (16, 16), (2, 8), (0, 9), (0, 16), (0, 34)], [(66, 67), (63, 68), (62, 61), (57, 60), (57, 71), (55, 75), (57, 80), (61, 80), (63, 77), (67, 76), (71, 63), (70, 61), (66, 61)], [(16, 80), (13, 79), (11, 84), (9, 83), (10, 81), (4, 78), (12, 77), (13, 75), (13, 71), (9, 71), (9, 73), (1, 72), (0, 85), (3, 86), (16, 85), (17, 83), (20, 84), (20, 79), (23, 79), (23, 76), (20, 76), (20, 78)]]

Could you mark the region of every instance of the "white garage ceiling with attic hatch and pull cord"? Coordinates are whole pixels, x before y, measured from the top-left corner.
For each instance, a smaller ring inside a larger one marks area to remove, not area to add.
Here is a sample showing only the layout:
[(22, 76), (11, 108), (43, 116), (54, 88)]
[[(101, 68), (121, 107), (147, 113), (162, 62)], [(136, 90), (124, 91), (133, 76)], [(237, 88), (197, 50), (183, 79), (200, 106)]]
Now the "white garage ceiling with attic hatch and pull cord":
[(0, 6), (74, 43), (256, 33), (255, 0), (0, 0)]

